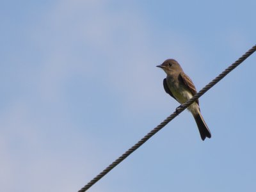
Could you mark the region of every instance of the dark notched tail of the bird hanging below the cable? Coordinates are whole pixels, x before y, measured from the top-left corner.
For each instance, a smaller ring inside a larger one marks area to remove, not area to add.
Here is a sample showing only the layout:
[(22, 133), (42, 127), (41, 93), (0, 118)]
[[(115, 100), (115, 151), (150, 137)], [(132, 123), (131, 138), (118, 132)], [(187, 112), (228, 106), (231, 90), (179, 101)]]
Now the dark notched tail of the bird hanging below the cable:
[(200, 136), (202, 140), (204, 141), (205, 138), (211, 138), (211, 132), (207, 125), (205, 124), (204, 118), (202, 117), (201, 113), (196, 113), (193, 115), (196, 121), (196, 125), (198, 127), (198, 130), (200, 132)]

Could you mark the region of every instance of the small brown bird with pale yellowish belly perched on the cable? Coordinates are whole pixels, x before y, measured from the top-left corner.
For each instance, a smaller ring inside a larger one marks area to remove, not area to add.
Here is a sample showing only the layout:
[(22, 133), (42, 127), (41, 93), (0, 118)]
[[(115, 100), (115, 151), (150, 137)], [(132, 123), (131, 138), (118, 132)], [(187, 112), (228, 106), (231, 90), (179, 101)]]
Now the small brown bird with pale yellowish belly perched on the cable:
[[(165, 60), (162, 65), (157, 65), (157, 67), (162, 68), (167, 74), (167, 77), (163, 81), (165, 92), (171, 95), (180, 104), (183, 104), (196, 94), (195, 85), (183, 72), (177, 61), (168, 59)], [(188, 110), (195, 118), (202, 140), (204, 141), (205, 138), (211, 138), (211, 132), (200, 113), (198, 99), (188, 107)]]

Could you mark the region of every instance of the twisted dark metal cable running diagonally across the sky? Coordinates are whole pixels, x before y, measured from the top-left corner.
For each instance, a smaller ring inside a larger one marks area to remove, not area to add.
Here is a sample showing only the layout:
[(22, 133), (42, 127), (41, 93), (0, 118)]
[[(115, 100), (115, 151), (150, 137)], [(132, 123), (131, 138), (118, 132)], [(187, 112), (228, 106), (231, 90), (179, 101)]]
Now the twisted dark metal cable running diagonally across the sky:
[(129, 148), (122, 156), (118, 157), (113, 163), (109, 164), (107, 168), (105, 168), (99, 175), (94, 177), (86, 186), (84, 186), (82, 189), (80, 189), (78, 192), (84, 192), (90, 187), (93, 186), (98, 180), (100, 180), (104, 175), (106, 175), (108, 172), (110, 172), (113, 168), (115, 168), (116, 165), (121, 163), (126, 157), (128, 157), (134, 150), (139, 148), (141, 145), (143, 145), (147, 140), (149, 140), (154, 134), (156, 134), (158, 131), (160, 131), (165, 125), (167, 125), (173, 118), (175, 118), (177, 115), (179, 115), (182, 111), (184, 111), (186, 108), (188, 108), (189, 105), (191, 105), (193, 102), (195, 102), (196, 99), (204, 95), (205, 92), (207, 92), (212, 86), (214, 86), (216, 83), (218, 83), (223, 77), (227, 76), (229, 72), (231, 72), (234, 68), (236, 68), (238, 65), (240, 65), (246, 58), (248, 58), (253, 52), (256, 51), (256, 45), (254, 45), (249, 51), (247, 51), (241, 58), (239, 58), (235, 63), (230, 65), (228, 68), (226, 68), (219, 76), (217, 76), (215, 79), (213, 79), (209, 84), (207, 84), (200, 92), (196, 93), (191, 99), (189, 99), (184, 104), (180, 105), (175, 112), (172, 113), (172, 115), (168, 116), (161, 124), (157, 125), (156, 128), (152, 129), (152, 131), (148, 132), (146, 136), (144, 136), (138, 143), (133, 145), (131, 148)]

